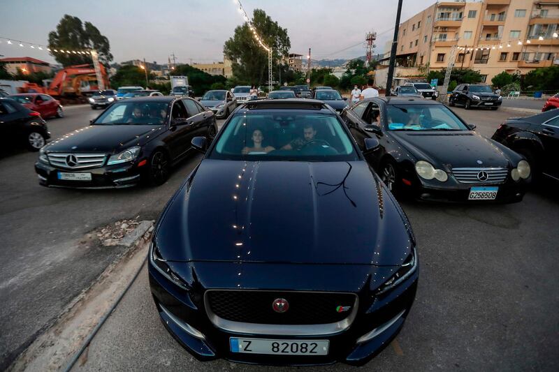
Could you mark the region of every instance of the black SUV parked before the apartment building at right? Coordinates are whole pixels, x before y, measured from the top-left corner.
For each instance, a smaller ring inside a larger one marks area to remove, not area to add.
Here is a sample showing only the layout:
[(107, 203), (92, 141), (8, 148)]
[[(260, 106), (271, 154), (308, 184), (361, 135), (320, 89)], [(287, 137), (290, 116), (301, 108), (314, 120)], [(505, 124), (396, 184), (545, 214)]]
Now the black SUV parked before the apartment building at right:
[(452, 92), (449, 105), (464, 105), (466, 110), (472, 107), (491, 107), (497, 110), (502, 97), (493, 93), (487, 84), (460, 84)]

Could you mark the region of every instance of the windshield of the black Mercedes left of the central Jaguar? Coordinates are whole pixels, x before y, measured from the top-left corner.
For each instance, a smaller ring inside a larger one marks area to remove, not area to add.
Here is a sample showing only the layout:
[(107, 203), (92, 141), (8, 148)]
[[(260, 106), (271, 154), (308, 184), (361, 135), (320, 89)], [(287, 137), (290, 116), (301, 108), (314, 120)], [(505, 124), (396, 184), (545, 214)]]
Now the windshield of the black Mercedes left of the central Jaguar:
[(165, 124), (169, 104), (166, 102), (119, 101), (110, 106), (94, 125), (161, 125)]

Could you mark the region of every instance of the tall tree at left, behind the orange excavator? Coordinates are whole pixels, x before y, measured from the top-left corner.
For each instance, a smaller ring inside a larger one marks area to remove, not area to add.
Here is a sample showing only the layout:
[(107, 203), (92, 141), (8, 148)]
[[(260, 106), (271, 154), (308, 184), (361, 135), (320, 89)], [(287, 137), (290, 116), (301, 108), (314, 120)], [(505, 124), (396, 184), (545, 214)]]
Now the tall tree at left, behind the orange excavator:
[(62, 66), (78, 64), (91, 64), (92, 57), (87, 54), (66, 54), (52, 52), (52, 50), (96, 50), (99, 61), (108, 66), (112, 61), (109, 40), (101, 35), (99, 29), (90, 22), (82, 24), (78, 17), (65, 14), (57, 25), (56, 31), (48, 34), (48, 46), (50, 54)]

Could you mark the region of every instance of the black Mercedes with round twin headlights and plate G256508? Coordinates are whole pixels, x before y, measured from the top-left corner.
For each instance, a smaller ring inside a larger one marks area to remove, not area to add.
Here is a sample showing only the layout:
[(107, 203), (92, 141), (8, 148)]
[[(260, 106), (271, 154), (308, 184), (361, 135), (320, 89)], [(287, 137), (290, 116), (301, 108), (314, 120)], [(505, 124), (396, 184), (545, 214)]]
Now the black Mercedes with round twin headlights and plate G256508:
[(368, 161), (395, 194), (447, 202), (519, 202), (530, 181), (523, 156), (474, 131), (448, 107), (410, 98), (370, 98), (342, 113)]

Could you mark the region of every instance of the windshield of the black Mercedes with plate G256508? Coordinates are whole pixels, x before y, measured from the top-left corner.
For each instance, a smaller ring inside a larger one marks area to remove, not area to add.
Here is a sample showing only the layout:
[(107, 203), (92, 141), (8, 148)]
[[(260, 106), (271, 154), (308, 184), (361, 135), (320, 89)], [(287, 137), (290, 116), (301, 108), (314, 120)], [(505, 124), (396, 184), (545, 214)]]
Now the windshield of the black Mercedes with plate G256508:
[(444, 105), (387, 105), (389, 131), (470, 131)]

